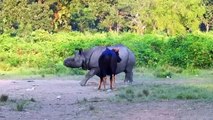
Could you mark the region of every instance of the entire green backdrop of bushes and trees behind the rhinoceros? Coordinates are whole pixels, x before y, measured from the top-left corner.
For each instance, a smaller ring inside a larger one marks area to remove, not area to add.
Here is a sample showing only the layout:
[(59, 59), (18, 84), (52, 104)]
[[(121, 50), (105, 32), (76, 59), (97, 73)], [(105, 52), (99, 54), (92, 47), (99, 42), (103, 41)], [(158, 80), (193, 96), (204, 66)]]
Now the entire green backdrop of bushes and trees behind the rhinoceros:
[(0, 71), (63, 73), (76, 47), (113, 44), (138, 67), (212, 68), (212, 24), (211, 0), (0, 0)]

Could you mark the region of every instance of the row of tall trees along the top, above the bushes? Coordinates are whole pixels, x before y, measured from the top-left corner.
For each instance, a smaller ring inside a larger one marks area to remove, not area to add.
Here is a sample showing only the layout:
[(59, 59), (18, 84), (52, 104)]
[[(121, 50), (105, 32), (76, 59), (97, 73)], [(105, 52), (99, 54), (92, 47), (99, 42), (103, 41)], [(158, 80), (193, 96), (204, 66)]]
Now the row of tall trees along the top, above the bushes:
[(0, 33), (209, 31), (212, 0), (0, 0)]

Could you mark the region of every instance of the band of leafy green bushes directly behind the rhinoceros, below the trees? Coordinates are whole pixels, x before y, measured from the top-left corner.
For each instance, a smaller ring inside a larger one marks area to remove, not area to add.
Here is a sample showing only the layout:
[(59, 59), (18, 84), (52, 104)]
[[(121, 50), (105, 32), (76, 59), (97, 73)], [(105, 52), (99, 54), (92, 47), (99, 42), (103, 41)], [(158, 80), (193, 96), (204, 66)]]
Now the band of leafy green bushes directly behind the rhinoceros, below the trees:
[(0, 36), (0, 70), (63, 73), (67, 71), (63, 60), (73, 55), (76, 47), (88, 49), (96, 45), (114, 44), (124, 44), (134, 51), (138, 67), (213, 67), (212, 33), (165, 37), (134, 33), (49, 34), (46, 31), (34, 31), (25, 37), (11, 37), (9, 34)]

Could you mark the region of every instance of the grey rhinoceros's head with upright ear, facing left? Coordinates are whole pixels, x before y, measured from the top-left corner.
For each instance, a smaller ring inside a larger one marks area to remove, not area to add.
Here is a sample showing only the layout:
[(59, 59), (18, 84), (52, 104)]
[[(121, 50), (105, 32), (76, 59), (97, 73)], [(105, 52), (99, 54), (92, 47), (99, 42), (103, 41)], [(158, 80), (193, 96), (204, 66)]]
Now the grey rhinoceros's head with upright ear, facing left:
[(83, 66), (83, 62), (85, 61), (83, 50), (82, 48), (76, 50), (74, 57), (69, 57), (64, 60), (64, 66), (71, 68), (79, 68)]

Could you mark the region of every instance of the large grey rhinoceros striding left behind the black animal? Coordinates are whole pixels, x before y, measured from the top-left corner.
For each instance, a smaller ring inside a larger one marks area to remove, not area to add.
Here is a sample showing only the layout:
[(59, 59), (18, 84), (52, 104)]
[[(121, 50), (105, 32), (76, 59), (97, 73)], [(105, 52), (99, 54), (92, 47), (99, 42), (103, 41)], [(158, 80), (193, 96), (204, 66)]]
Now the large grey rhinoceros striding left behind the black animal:
[[(115, 45), (108, 47), (109, 49), (118, 48), (119, 56), (122, 59), (117, 65), (116, 74), (125, 72), (124, 82), (133, 81), (133, 67), (135, 65), (135, 56), (124, 45)], [(85, 86), (87, 81), (94, 75), (99, 76), (98, 59), (102, 52), (106, 49), (105, 46), (96, 46), (89, 50), (79, 50), (74, 57), (70, 57), (64, 60), (64, 65), (70, 68), (80, 68), (89, 70), (85, 78), (80, 82), (81, 86)]]

